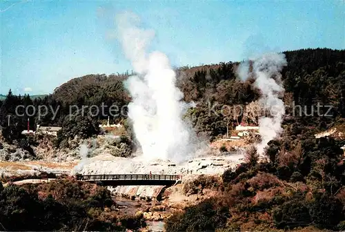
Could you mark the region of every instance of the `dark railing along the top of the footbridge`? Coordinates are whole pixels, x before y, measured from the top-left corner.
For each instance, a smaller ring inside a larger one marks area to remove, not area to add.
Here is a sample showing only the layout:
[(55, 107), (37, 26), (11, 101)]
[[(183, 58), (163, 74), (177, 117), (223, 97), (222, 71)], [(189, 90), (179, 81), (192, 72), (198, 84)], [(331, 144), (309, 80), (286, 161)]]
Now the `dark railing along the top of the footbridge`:
[(110, 174), (110, 175), (77, 175), (77, 180), (180, 180), (180, 175), (150, 175), (150, 174)]

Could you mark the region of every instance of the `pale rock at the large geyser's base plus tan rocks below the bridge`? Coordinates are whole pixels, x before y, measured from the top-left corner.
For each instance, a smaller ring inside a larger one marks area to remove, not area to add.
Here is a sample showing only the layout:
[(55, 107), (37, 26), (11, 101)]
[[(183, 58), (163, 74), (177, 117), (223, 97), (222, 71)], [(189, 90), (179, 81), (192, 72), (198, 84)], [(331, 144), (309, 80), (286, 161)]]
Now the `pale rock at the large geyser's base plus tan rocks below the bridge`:
[[(170, 186), (117, 186), (110, 191), (124, 206), (124, 211), (135, 211), (143, 214), (149, 221), (166, 220), (175, 211), (182, 211), (190, 204), (197, 204), (211, 197), (217, 191), (201, 191), (196, 194), (184, 192), (184, 185), (195, 180), (201, 174), (213, 175), (217, 178), (228, 168), (235, 168), (243, 160), (242, 153), (222, 153), (210, 157), (195, 157), (183, 164), (164, 162), (161, 160), (147, 161), (141, 157), (121, 158), (102, 155), (84, 160), (72, 173), (111, 174), (111, 173), (151, 173), (182, 175), (181, 184)], [(157, 201), (159, 196), (160, 201)]]

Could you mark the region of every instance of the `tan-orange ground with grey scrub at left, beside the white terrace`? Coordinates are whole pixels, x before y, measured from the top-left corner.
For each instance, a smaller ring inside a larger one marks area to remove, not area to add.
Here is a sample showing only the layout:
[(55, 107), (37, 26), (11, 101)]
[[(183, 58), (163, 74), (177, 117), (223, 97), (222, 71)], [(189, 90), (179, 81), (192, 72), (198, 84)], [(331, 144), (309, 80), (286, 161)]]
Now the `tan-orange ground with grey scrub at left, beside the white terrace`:
[[(30, 146), (32, 153), (20, 148), (19, 144), (8, 144), (0, 135), (0, 175), (33, 175), (39, 172), (70, 173), (81, 157), (100, 154), (117, 155), (119, 148), (114, 139), (97, 137), (73, 139), (72, 148), (55, 148), (52, 137), (43, 137), (37, 146)], [(82, 147), (86, 147), (86, 153)], [(85, 153), (85, 154), (83, 154)]]

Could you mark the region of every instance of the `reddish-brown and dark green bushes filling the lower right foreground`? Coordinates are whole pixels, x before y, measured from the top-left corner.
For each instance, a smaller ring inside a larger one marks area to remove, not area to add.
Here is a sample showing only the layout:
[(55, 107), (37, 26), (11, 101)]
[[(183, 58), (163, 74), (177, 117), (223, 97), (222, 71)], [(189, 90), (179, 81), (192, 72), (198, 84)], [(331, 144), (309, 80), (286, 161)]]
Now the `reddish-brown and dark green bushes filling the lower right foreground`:
[(214, 197), (172, 215), (166, 231), (344, 231), (344, 152), (334, 139), (275, 140), (221, 180), (200, 175), (186, 194)]

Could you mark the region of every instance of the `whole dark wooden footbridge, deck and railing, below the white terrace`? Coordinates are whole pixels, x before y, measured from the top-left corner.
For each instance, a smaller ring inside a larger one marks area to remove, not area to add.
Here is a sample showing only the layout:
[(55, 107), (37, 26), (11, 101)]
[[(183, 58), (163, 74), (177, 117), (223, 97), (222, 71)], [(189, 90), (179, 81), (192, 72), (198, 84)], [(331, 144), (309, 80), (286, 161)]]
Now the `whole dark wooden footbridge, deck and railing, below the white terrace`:
[(123, 185), (167, 185), (181, 182), (181, 175), (150, 174), (110, 174), (110, 175), (76, 175), (77, 180), (101, 182), (104, 186)]

